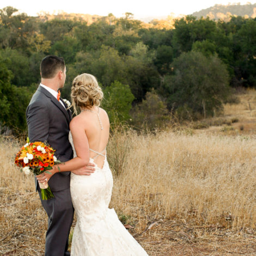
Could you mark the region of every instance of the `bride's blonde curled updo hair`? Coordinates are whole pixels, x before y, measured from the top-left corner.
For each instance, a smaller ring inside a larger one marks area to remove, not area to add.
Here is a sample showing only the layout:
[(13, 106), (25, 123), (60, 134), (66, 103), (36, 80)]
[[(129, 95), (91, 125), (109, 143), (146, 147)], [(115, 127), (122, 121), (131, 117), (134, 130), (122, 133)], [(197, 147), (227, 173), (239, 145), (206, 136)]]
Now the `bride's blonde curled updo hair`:
[(102, 97), (102, 90), (93, 75), (84, 73), (74, 79), (71, 87), (71, 100), (76, 114), (77, 106), (80, 108), (100, 106)]

